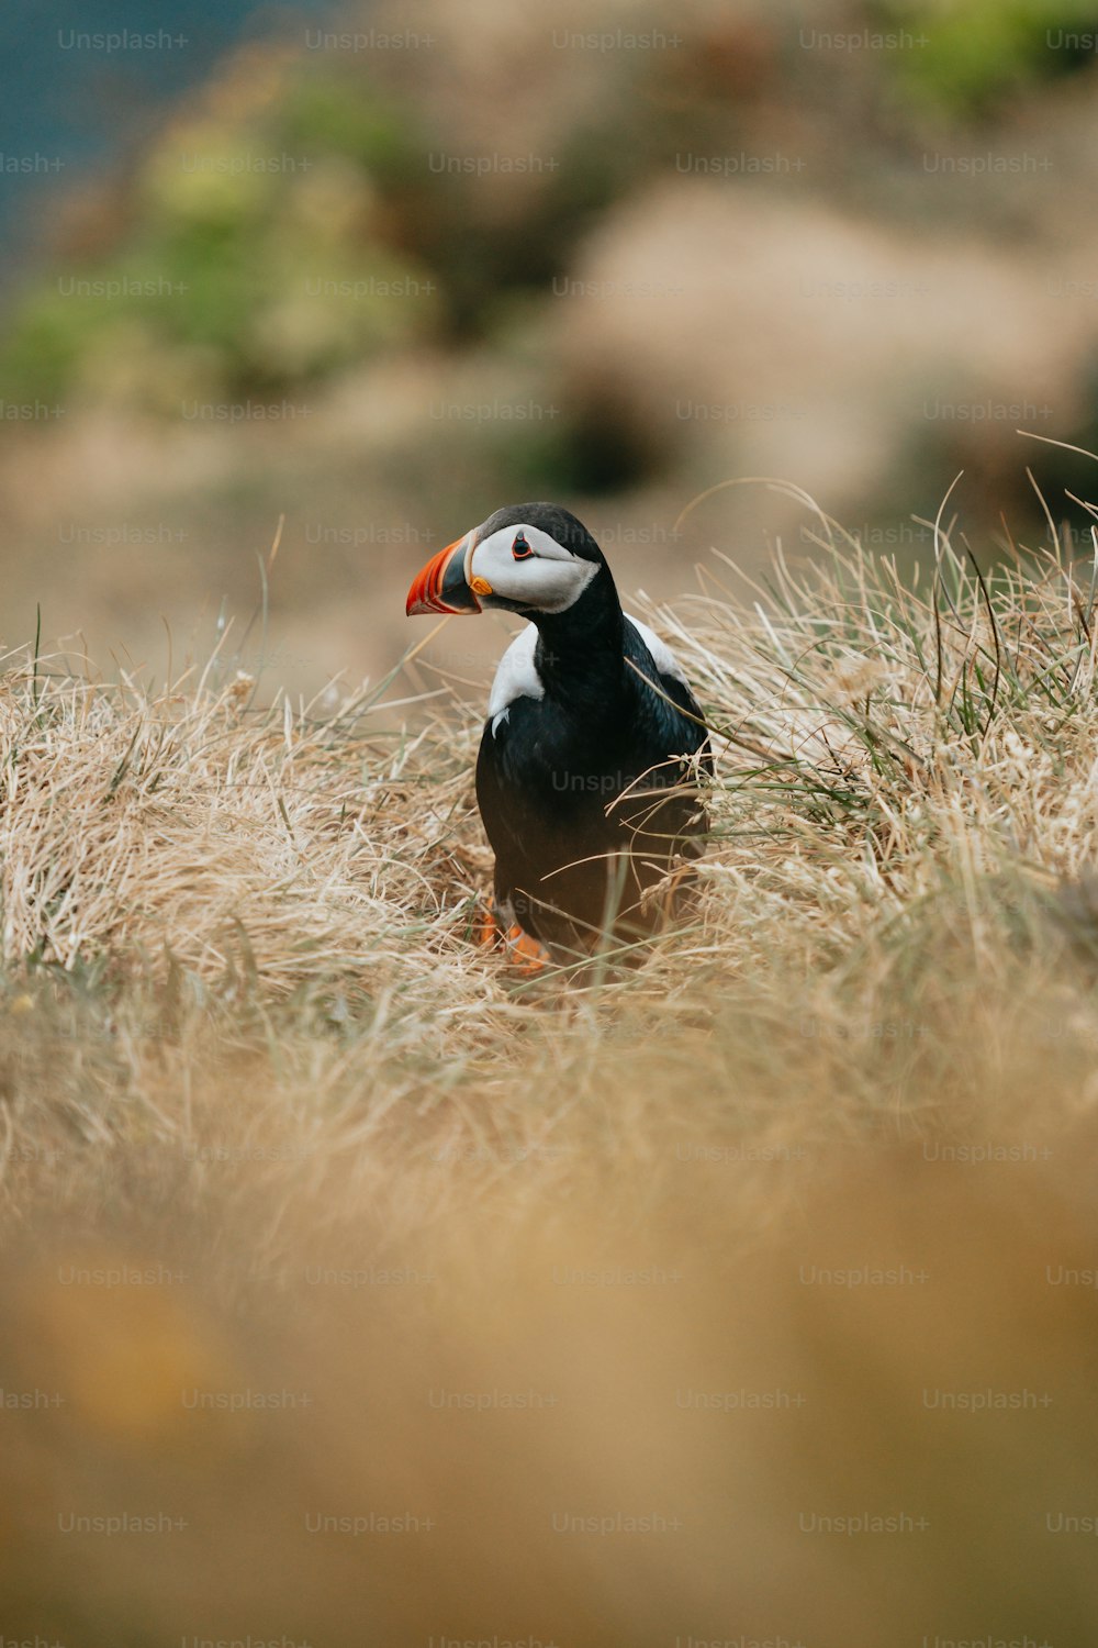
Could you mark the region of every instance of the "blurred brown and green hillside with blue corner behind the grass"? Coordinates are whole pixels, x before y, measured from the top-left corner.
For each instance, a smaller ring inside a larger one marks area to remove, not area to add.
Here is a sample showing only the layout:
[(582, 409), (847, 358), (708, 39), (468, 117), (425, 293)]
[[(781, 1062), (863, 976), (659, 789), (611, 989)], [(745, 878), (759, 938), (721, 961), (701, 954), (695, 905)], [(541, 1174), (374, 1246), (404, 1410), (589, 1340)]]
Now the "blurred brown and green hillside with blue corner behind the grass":
[(1090, 554), (1091, 461), (1016, 430), (1098, 440), (1098, 7), (170, 13), (0, 21), (8, 648), (163, 679), (235, 615), (226, 667), (357, 682), (500, 504), (670, 597), (812, 552), (767, 476), (909, 562), (958, 470), (978, 554), (1042, 537), (1031, 465)]

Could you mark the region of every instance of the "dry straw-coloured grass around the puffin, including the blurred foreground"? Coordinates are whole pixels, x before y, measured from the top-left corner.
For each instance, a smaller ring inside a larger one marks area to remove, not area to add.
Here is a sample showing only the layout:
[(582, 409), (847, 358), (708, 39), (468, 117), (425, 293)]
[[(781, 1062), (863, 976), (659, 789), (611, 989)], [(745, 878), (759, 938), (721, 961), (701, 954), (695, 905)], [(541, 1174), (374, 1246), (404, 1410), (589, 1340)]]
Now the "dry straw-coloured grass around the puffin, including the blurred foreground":
[[(13, 662), (0, 1374), (69, 1404), (28, 1416), (8, 1465), (13, 1620), (849, 1645), (979, 1615), (1083, 1640), (1085, 1551), (1042, 1518), (1093, 1511), (1073, 1460), (1098, 1440), (1072, 1371), (1091, 1302), (1045, 1282), (1098, 1241), (1091, 569), (1054, 547), (993, 575), (942, 537), (935, 575), (904, 580), (826, 524), (817, 565), (779, 560), (747, 598), (714, 565), (649, 613), (719, 733), (703, 893), (624, 977), (530, 984), (471, 946), (472, 707), (397, 733), (377, 694), (257, 710), (216, 667), (153, 695)], [(188, 1284), (59, 1285), (94, 1262)], [(932, 1280), (800, 1279), (828, 1264)], [(342, 1282), (313, 1285), (324, 1266)], [(568, 1266), (678, 1279), (558, 1285)], [(179, 1406), (295, 1383), (308, 1422)], [(675, 1409), (775, 1384), (807, 1417)], [(425, 1386), (563, 1407), (474, 1434), (426, 1416)], [(950, 1422), (928, 1386), (1054, 1394)], [(77, 1478), (74, 1439), (97, 1460)], [(194, 1534), (130, 1594), (122, 1541), (58, 1538), (81, 1495), (183, 1503)], [(402, 1496), (453, 1533), (301, 1533), (303, 1506)], [(682, 1506), (678, 1543), (550, 1529)], [(933, 1533), (808, 1539), (812, 1508)]]

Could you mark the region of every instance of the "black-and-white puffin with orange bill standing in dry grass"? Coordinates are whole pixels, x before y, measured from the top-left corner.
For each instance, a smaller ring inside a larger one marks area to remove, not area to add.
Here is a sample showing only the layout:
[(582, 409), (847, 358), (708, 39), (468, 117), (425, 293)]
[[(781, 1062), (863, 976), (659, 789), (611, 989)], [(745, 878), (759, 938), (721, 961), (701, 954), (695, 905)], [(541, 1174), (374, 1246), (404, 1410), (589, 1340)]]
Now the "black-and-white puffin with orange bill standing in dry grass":
[(705, 850), (713, 753), (698, 700), (670, 648), (622, 611), (591, 532), (558, 504), (497, 509), (408, 590), (410, 616), (486, 608), (528, 623), (495, 671), (476, 763), (495, 854), (481, 941), (530, 972), (606, 946), (644, 949), (682, 908)]

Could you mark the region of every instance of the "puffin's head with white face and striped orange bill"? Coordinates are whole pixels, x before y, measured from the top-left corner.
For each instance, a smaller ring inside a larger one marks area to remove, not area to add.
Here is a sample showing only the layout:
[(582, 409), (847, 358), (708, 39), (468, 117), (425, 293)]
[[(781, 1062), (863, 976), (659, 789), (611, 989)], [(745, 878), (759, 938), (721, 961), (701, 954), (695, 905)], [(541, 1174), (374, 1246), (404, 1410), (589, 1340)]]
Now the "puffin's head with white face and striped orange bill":
[(606, 557), (573, 514), (556, 504), (512, 504), (428, 560), (407, 611), (563, 613), (599, 572), (609, 577)]

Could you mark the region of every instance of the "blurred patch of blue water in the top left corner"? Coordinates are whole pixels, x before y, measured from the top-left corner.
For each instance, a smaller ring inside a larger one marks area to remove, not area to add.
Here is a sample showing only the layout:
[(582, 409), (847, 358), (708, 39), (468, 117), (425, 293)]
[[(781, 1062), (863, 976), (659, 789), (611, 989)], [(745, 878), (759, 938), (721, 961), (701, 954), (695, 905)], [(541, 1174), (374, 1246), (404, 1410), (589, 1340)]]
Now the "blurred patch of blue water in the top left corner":
[[(48, 249), (59, 188), (79, 188), (132, 152), (239, 41), (295, 31), (331, 12), (331, 0), (278, 8), (255, 0), (2, 0), (0, 293)], [(125, 31), (153, 35), (158, 44), (107, 49), (74, 38)], [(12, 171), (13, 163), (35, 170)]]

